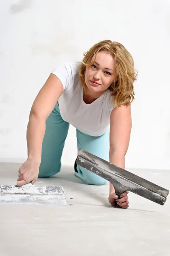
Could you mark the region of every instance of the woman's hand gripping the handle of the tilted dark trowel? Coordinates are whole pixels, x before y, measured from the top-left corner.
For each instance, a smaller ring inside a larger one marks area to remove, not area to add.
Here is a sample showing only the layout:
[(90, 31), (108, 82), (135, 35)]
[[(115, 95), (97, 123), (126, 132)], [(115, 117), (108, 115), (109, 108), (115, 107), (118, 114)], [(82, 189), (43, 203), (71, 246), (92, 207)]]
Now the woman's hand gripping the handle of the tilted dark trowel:
[[(128, 208), (129, 207), (129, 201), (128, 201), (128, 196), (127, 196), (128, 193), (129, 193), (129, 191), (124, 192), (123, 194), (121, 194), (120, 199), (118, 199), (117, 204), (121, 208)], [(115, 206), (115, 199), (117, 199), (117, 198), (118, 198), (118, 196), (115, 195), (115, 193), (109, 194), (109, 203), (112, 206)]]

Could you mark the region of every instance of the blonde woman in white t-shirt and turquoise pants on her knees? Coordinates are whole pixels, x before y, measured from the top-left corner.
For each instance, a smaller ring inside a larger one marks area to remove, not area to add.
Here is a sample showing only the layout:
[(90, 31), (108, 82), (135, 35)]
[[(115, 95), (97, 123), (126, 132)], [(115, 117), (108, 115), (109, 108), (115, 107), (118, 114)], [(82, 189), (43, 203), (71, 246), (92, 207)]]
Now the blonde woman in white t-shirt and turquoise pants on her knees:
[[(109, 40), (91, 47), (80, 64), (64, 63), (55, 68), (32, 105), (28, 159), (19, 169), (17, 185), (33, 184), (37, 177), (60, 172), (69, 124), (76, 128), (78, 147), (125, 168), (135, 80), (132, 56), (123, 45)], [(76, 164), (75, 175), (87, 184), (107, 182)], [(122, 208), (129, 207), (127, 194), (118, 200)], [(110, 184), (111, 205), (116, 198)]]

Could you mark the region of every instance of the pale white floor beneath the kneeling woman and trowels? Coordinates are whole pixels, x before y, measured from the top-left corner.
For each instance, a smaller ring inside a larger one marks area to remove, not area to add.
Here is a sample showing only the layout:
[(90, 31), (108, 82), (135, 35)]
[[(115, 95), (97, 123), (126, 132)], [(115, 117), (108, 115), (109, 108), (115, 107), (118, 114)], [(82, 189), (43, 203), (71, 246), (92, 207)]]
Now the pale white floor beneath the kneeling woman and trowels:
[[(0, 163), (0, 184), (16, 184), (19, 166)], [(170, 189), (170, 171), (131, 172)], [(130, 193), (118, 209), (109, 184), (86, 185), (66, 166), (35, 185), (63, 186), (68, 205), (0, 204), (0, 256), (170, 256), (170, 195), (160, 206)]]

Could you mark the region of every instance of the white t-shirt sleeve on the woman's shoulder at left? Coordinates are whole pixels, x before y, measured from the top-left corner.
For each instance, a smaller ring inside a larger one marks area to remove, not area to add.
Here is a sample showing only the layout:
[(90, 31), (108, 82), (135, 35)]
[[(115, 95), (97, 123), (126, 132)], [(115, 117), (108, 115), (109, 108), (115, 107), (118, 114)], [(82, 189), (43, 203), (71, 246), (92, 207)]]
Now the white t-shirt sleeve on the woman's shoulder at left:
[(61, 83), (63, 84), (63, 90), (66, 90), (70, 85), (73, 84), (76, 73), (76, 65), (68, 62), (56, 67), (51, 72), (51, 74), (54, 74), (58, 77), (58, 79), (60, 79)]

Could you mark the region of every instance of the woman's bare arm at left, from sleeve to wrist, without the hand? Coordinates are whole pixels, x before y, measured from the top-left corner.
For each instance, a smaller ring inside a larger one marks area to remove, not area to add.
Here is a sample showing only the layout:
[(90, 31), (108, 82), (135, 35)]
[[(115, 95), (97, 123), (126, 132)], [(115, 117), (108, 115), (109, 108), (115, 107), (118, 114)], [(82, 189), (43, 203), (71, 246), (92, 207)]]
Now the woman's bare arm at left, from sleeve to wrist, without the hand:
[(41, 161), (41, 147), (45, 134), (45, 122), (63, 93), (63, 85), (51, 74), (32, 105), (27, 127), (28, 159)]

